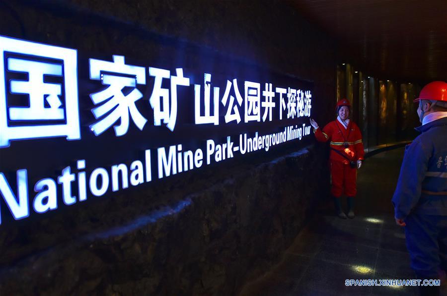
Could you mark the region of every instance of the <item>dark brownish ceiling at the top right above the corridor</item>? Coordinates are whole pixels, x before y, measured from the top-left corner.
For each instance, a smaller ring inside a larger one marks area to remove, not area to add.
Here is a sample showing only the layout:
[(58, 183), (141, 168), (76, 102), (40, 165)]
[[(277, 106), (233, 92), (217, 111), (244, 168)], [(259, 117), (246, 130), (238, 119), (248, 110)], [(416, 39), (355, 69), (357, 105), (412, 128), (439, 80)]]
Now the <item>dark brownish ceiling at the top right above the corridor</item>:
[(408, 82), (447, 80), (447, 0), (293, 0), (338, 41), (339, 62)]

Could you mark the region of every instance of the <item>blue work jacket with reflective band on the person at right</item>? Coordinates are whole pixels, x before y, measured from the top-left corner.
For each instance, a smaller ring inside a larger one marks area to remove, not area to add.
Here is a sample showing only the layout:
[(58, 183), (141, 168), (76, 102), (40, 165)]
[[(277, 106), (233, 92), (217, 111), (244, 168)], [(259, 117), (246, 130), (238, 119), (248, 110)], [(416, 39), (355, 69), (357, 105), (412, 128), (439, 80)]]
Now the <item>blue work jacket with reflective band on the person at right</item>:
[(411, 212), (447, 216), (447, 117), (421, 125), (405, 149), (392, 198), (394, 215)]

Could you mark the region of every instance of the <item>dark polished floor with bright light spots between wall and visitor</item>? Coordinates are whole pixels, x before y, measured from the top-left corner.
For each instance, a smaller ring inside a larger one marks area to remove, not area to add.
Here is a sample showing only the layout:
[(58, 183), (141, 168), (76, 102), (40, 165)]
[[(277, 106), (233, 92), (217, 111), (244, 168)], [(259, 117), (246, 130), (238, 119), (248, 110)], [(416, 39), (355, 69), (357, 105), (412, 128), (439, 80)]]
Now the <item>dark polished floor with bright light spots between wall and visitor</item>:
[[(417, 287), (345, 286), (346, 279), (415, 278), (391, 204), (403, 151), (365, 161), (358, 173), (356, 218), (335, 217), (328, 203), (300, 232), (283, 261), (240, 295), (419, 295)], [(442, 295), (447, 295), (444, 285)]]

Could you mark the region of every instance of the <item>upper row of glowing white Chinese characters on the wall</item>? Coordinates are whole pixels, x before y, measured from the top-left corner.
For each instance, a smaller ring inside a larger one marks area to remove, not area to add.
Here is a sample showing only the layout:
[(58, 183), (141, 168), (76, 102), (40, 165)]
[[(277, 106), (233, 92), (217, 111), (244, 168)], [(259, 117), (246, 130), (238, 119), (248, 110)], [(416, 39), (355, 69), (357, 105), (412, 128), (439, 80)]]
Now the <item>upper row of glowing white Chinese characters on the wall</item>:
[[(125, 56), (112, 55), (111, 60), (88, 59), (88, 73), (79, 73), (88, 75), (94, 86), (90, 102), (81, 98), (91, 117), (79, 118), (76, 50), (0, 36), (0, 52), (4, 57), (0, 59), (0, 148), (8, 147), (11, 140), (79, 140), (82, 126), (89, 127), (82, 132), (96, 137), (111, 127), (116, 137), (126, 135), (129, 128), (166, 127), (173, 132), (185, 114), (179, 106), (191, 109), (196, 125), (310, 117), (309, 89), (206, 72), (200, 74), (203, 80), (192, 85), (194, 69), (133, 64)], [(180, 88), (191, 91), (179, 92)], [(185, 93), (194, 95), (185, 97)]]

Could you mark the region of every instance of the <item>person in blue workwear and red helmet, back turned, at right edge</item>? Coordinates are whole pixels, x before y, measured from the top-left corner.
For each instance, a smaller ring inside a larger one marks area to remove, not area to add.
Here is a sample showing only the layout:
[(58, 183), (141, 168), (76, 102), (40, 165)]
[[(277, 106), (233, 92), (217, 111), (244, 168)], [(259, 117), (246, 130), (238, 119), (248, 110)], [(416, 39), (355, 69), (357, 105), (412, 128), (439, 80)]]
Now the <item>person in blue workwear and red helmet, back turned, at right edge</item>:
[[(440, 279), (447, 270), (447, 83), (427, 84), (414, 101), (422, 134), (405, 149), (392, 199), (394, 218), (405, 227), (417, 277)], [(439, 287), (420, 286), (420, 291), (440, 293)]]

